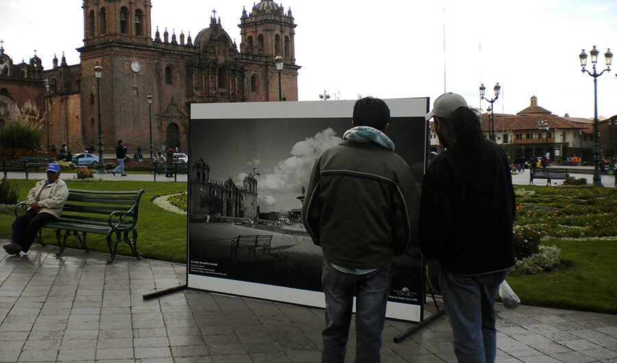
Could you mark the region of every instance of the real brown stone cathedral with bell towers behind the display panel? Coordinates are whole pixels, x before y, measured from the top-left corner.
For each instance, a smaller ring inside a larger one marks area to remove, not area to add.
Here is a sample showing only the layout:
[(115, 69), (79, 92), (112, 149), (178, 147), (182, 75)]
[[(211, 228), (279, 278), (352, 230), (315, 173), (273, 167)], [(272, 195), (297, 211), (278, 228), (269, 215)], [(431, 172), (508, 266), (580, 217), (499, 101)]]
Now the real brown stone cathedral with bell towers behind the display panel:
[(45, 70), (36, 54), (15, 64), (0, 45), (0, 124), (14, 105), (34, 101), (49, 116), (43, 147), (66, 144), (73, 153), (96, 147), (100, 99), (106, 153), (122, 139), (130, 153), (141, 146), (146, 155), (150, 114), (155, 153), (160, 145), (187, 150), (191, 103), (279, 100), (277, 55), (284, 58), (282, 100), (298, 100), (296, 25), (291, 9), (274, 1), (242, 10), (239, 47), (215, 16), (194, 39), (167, 29), (161, 36), (158, 27), (152, 38), (150, 0), (84, 0), (82, 8), (80, 64), (54, 56), (53, 68)]

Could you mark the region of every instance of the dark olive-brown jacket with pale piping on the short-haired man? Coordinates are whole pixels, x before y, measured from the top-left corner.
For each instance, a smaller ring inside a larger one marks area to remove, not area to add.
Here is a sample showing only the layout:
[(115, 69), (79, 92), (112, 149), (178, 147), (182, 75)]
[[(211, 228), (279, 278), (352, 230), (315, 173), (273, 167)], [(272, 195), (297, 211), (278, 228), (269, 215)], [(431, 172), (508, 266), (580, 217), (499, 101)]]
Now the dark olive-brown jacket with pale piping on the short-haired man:
[(329, 262), (378, 268), (416, 241), (419, 199), (399, 155), (373, 142), (346, 140), (317, 158), (302, 223)]

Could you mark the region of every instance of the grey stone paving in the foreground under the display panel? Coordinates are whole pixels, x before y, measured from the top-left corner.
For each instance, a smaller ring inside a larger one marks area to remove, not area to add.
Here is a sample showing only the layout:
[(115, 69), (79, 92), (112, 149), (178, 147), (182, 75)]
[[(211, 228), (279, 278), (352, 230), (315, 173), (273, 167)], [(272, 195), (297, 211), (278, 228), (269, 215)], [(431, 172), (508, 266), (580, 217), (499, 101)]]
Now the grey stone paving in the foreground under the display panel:
[[(202, 290), (143, 300), (183, 284), (186, 266), (57, 249), (0, 256), (1, 362), (319, 362), (322, 309)], [(617, 315), (496, 310), (498, 362), (617, 362)], [(394, 343), (412, 326), (386, 321), (384, 362), (456, 362), (446, 316)]]

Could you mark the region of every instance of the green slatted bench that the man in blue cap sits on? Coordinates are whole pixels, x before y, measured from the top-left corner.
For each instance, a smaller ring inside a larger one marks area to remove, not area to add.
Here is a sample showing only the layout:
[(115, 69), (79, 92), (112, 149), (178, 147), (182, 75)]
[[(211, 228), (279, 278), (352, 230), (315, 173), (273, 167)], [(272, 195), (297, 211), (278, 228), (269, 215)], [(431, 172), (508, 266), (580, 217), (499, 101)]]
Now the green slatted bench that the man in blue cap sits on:
[[(110, 264), (116, 258), (116, 251), (121, 242), (129, 245), (133, 255), (141, 258), (137, 253), (137, 213), (139, 200), (144, 190), (104, 192), (97, 190), (69, 189), (69, 198), (62, 208), (62, 216), (56, 222), (44, 223), (44, 228), (56, 229), (56, 238), (60, 256), (66, 247), (66, 239), (75, 236), (86, 251), (86, 235), (101, 234), (106, 236)], [(19, 215), (27, 209), (27, 203), (19, 203), (15, 214)], [(38, 234), (38, 241), (45, 246)]]

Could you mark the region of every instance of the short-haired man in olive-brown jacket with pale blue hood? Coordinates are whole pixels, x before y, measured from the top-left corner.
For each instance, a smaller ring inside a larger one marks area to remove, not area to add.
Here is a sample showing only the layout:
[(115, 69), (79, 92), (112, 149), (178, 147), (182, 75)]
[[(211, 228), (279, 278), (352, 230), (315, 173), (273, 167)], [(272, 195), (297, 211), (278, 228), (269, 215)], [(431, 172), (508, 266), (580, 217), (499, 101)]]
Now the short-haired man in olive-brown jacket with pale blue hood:
[(326, 328), (322, 362), (344, 362), (356, 296), (356, 362), (380, 362), (392, 258), (417, 233), (420, 196), (409, 166), (386, 136), (381, 99), (356, 101), (352, 129), (313, 166), (302, 223), (324, 253)]

